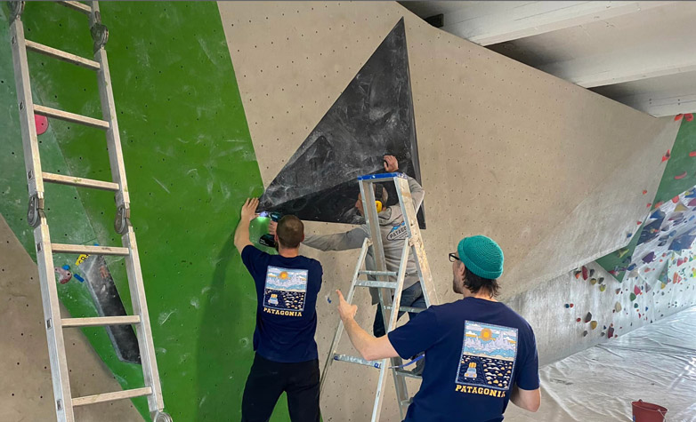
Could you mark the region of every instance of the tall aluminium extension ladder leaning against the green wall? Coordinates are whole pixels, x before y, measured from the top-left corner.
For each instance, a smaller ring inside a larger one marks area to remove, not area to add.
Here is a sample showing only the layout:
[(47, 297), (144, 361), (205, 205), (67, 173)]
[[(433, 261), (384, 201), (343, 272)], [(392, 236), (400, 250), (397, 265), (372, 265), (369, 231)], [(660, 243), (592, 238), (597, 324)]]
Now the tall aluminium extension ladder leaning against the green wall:
[[(56, 417), (60, 422), (75, 420), (73, 408), (99, 402), (133, 397), (148, 397), (150, 413), (157, 422), (168, 422), (172, 418), (164, 410), (162, 390), (159, 385), (159, 373), (155, 358), (155, 348), (150, 330), (150, 316), (145, 300), (145, 290), (142, 284), (142, 272), (135, 234), (130, 222), (130, 199), (125, 183), (125, 168), (121, 140), (118, 133), (114, 96), (111, 91), (111, 76), (104, 44), (109, 37), (108, 29), (101, 24), (99, 4), (91, 5), (80, 2), (58, 2), (77, 12), (84, 13), (89, 19), (89, 28), (94, 40), (94, 60), (88, 60), (69, 52), (61, 52), (52, 47), (38, 44), (24, 38), (24, 25), (21, 14), (24, 12), (24, 2), (11, 2), (10, 36), (12, 39), (12, 60), (14, 63), (14, 80), (17, 85), (17, 98), (20, 107), (20, 125), (24, 149), (24, 163), (27, 170), (29, 194), (28, 223), (34, 227), (36, 242), (36, 264), (41, 283), (41, 298), (44, 306), (46, 337), (48, 338), (48, 353), (51, 362), (53, 378), (53, 398), (55, 399)], [(38, 6), (38, 4), (36, 4)], [(54, 59), (67, 61), (82, 68), (96, 72), (101, 97), (103, 120), (76, 115), (51, 107), (34, 104), (29, 83), (27, 50), (45, 54)], [(109, 147), (109, 163), (112, 182), (83, 179), (61, 174), (41, 171), (39, 145), (36, 139), (34, 115), (45, 115), (70, 123), (100, 128), (106, 131)], [(44, 213), (44, 183), (57, 183), (73, 187), (86, 187), (107, 190), (115, 193), (117, 217), (115, 228), (121, 235), (123, 247), (85, 246), (75, 244), (51, 243), (48, 221)], [(61, 318), (58, 291), (53, 272), (53, 253), (93, 254), (125, 257), (125, 268), (131, 291), (134, 315), (102, 316), (93, 318)], [(72, 397), (70, 393), (68, 362), (65, 354), (63, 329), (68, 327), (95, 327), (105, 325), (132, 324), (138, 337), (142, 372), (145, 386), (114, 393), (94, 394), (85, 397)]]

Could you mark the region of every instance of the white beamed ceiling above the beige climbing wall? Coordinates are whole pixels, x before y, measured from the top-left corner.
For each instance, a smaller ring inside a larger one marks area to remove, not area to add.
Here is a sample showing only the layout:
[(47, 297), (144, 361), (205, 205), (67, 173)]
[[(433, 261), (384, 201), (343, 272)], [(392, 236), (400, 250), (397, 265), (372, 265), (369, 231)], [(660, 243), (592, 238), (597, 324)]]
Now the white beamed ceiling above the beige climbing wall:
[(696, 1), (401, 2), (441, 28), (651, 115), (696, 112)]

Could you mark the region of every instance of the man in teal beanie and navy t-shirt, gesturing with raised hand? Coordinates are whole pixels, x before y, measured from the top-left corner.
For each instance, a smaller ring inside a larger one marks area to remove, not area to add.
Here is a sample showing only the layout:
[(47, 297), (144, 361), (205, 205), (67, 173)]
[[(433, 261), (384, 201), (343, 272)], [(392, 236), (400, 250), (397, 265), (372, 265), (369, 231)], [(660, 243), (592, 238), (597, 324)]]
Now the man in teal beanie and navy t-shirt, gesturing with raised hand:
[(465, 237), (453, 261), (453, 289), (464, 299), (429, 307), (407, 324), (374, 338), (355, 322), (357, 307), (338, 291), (338, 311), (363, 358), (409, 358), (425, 352), (420, 390), (408, 422), (498, 422), (509, 401), (537, 411), (537, 343), (530, 324), (498, 302), (503, 251), (485, 236)]

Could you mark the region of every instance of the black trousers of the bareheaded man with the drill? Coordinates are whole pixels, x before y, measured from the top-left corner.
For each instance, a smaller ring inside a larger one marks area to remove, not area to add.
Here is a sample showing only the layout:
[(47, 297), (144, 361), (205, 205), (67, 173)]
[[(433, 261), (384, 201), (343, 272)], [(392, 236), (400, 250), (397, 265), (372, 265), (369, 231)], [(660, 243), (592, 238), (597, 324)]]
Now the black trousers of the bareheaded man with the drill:
[(242, 397), (242, 422), (266, 422), (280, 394), (292, 422), (319, 422), (319, 360), (281, 363), (254, 357)]

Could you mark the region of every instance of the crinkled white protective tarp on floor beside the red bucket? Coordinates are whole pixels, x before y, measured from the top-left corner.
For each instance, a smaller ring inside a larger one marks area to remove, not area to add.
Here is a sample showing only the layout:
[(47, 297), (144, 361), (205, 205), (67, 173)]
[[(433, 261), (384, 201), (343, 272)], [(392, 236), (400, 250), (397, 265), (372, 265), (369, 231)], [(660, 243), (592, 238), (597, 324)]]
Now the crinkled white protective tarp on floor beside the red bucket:
[(696, 307), (539, 370), (541, 408), (510, 403), (506, 422), (630, 421), (631, 402), (660, 404), (668, 422), (696, 422)]

